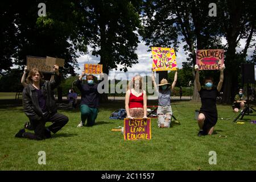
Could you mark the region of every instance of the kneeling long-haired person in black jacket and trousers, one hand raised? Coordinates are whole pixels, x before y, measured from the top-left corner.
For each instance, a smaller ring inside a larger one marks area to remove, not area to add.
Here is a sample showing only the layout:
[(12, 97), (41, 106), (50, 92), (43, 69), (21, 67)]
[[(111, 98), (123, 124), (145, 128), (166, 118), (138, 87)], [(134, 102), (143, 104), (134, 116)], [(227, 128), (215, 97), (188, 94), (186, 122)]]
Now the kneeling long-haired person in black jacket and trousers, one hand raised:
[[(68, 122), (68, 117), (57, 113), (53, 97), (53, 89), (60, 84), (59, 66), (54, 65), (55, 78), (53, 81), (44, 81), (42, 73), (33, 68), (28, 73), (28, 85), (23, 89), (22, 102), (24, 112), (30, 118), (35, 134), (19, 130), (15, 137), (42, 140), (51, 138), (51, 132), (56, 133)], [(52, 125), (45, 127), (46, 122)]]

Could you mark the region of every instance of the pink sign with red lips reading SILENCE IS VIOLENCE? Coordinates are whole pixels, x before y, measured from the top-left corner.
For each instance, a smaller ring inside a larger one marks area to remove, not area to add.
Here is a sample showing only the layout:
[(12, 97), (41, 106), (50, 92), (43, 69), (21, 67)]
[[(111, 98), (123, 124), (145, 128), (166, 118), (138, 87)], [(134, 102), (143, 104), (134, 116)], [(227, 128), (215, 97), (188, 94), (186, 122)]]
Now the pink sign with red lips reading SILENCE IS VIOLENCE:
[(199, 66), (199, 70), (218, 70), (224, 64), (224, 50), (197, 50), (196, 64)]

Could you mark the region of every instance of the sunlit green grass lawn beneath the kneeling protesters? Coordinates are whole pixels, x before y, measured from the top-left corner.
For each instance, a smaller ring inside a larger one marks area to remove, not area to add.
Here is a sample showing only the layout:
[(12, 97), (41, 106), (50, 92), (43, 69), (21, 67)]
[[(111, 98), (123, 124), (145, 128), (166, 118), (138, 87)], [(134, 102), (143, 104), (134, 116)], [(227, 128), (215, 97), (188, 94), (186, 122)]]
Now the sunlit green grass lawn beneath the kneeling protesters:
[[(173, 102), (180, 125), (159, 129), (152, 119), (151, 140), (129, 141), (120, 132), (110, 131), (123, 126), (123, 121), (109, 119), (112, 111), (123, 107), (123, 103), (101, 104), (97, 124), (82, 128), (77, 128), (78, 109), (59, 110), (69, 117), (68, 124), (51, 139), (36, 141), (14, 138), (28, 121), (22, 107), (0, 105), (0, 169), (256, 170), (256, 125), (250, 123), (255, 116), (245, 116), (245, 124), (238, 125), (232, 123), (237, 115), (232, 108), (218, 105), (214, 135), (197, 137), (195, 109), (200, 103)], [(46, 152), (46, 165), (38, 164), (39, 151)], [(209, 151), (216, 151), (216, 165), (209, 164)]]

